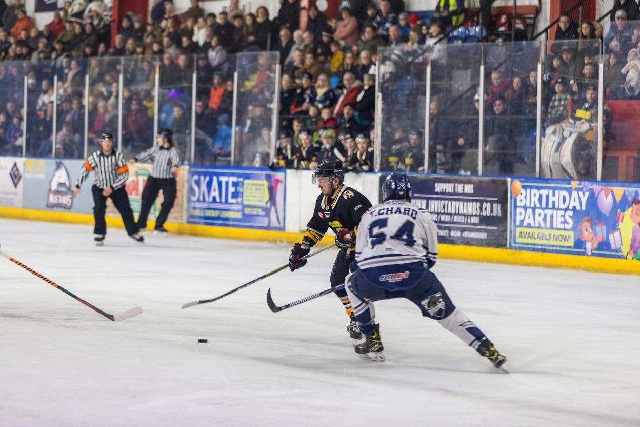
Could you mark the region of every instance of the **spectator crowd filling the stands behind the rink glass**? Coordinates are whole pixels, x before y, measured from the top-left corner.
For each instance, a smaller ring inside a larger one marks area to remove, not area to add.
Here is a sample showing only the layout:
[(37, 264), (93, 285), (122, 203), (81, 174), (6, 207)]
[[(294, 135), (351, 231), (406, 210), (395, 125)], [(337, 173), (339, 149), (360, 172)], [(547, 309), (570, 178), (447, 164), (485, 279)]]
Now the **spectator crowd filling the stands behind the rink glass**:
[[(378, 49), (392, 47), (408, 57), (428, 50), (443, 68), (455, 69), (456, 62), (447, 63), (442, 52), (447, 40), (438, 42), (465, 17), (460, 1), (438, 2), (431, 19), (423, 21), (404, 11), (403, 0), (350, 0), (340, 4), (333, 19), (310, 6), (302, 29), (299, 0), (283, 0), (275, 17), (264, 6), (248, 12), (239, 0), (230, 0), (218, 14), (205, 13), (197, 0), (182, 13), (170, 0), (155, 0), (149, 17), (130, 13), (121, 20), (111, 45), (110, 11), (102, 1), (65, 1), (42, 29), (27, 16), (22, 0), (7, 1), (12, 4), (0, 0), (0, 82), (8, 88), (0, 92), (0, 154), (19, 154), (26, 144), (28, 156), (51, 156), (53, 150), (55, 156), (80, 158), (85, 132), (93, 141), (102, 131), (117, 134), (120, 126), (122, 147), (134, 152), (152, 141), (157, 110), (157, 127), (172, 129), (187, 158), (195, 140), (195, 163), (228, 165), (236, 156), (236, 165), (314, 168), (331, 158), (354, 172), (373, 168), (376, 72), (381, 67), (383, 75), (385, 67)], [(606, 96), (640, 98), (640, 25), (632, 22), (640, 19), (638, 14), (636, 0), (616, 0), (606, 35), (598, 22), (576, 24), (568, 15), (561, 17), (544, 60), (545, 126), (568, 118), (597, 121), (601, 45), (607, 55)], [(477, 40), (484, 33), (479, 31)], [(275, 52), (282, 66), (277, 82)], [(457, 98), (446, 91), (432, 93), (424, 106), (431, 116), (428, 172), (477, 172), (481, 102), (485, 161), (495, 165), (496, 173), (514, 173), (518, 163), (530, 163), (536, 61), (517, 66), (498, 61), (487, 67), (484, 99), (476, 93), (477, 82)], [(231, 153), (236, 70), (239, 143)], [(22, 81), (28, 85), (26, 106)], [(273, 99), (276, 85), (278, 100)], [(26, 136), (24, 115), (29, 118)], [(606, 109), (605, 115), (606, 139), (611, 127)], [(382, 168), (423, 172), (422, 126), (389, 122), (394, 123), (388, 129), (385, 125)], [(275, 159), (273, 131), (278, 136)]]

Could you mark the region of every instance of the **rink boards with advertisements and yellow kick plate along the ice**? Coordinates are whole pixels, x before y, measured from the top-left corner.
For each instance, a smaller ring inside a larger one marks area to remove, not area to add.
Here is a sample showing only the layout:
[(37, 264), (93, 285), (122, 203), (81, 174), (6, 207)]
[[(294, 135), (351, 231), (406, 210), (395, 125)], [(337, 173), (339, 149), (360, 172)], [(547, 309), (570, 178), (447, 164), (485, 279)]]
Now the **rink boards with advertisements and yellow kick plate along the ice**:
[[(0, 157), (0, 216), (93, 223), (90, 186), (71, 197), (82, 161)], [(134, 214), (150, 165), (129, 165)], [(314, 209), (310, 171), (183, 166), (170, 232), (216, 238), (299, 241)], [(349, 173), (372, 204), (385, 173)], [(413, 201), (440, 230), (440, 255), (471, 261), (640, 274), (640, 184), (412, 175)], [(162, 196), (152, 207), (150, 221)], [(108, 225), (122, 227), (111, 205)], [(332, 236), (324, 241), (331, 243)]]

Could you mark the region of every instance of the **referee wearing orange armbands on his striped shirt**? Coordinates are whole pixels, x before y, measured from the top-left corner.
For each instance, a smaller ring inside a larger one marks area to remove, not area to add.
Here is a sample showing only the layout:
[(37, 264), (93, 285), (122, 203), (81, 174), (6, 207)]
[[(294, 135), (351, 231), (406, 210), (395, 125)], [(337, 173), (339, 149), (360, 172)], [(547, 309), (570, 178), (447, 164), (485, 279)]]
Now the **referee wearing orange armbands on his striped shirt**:
[(138, 225), (133, 219), (133, 211), (129, 204), (129, 197), (124, 189), (124, 185), (129, 178), (129, 166), (124, 161), (121, 152), (113, 149), (113, 135), (103, 133), (100, 135), (100, 150), (93, 152), (91, 156), (84, 161), (84, 167), (80, 172), (80, 177), (74, 189), (74, 196), (80, 193), (80, 186), (86, 181), (89, 173), (95, 172), (95, 184), (91, 189), (93, 193), (93, 218), (95, 218), (95, 244), (102, 246), (104, 243), (104, 235), (107, 232), (107, 225), (104, 222), (104, 211), (107, 205), (107, 198), (111, 197), (111, 201), (122, 216), (124, 228), (132, 239), (143, 242), (144, 238), (140, 236)]

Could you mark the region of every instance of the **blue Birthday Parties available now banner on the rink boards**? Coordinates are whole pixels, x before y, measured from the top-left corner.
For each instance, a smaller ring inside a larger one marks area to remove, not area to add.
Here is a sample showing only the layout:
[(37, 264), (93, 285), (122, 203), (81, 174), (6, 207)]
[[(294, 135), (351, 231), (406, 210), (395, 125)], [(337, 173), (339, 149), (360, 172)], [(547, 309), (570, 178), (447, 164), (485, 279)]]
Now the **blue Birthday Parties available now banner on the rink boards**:
[(640, 184), (511, 181), (509, 247), (640, 259)]

